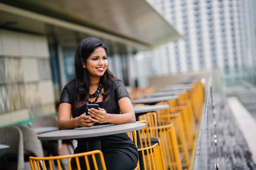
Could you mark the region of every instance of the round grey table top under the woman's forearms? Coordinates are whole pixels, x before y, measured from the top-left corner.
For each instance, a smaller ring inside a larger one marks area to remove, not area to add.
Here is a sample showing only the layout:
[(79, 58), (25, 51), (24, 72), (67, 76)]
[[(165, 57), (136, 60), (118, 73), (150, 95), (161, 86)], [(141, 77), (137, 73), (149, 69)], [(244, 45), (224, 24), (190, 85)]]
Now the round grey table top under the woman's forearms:
[(88, 128), (72, 130), (57, 130), (38, 135), (38, 140), (75, 140), (81, 138), (93, 139), (102, 136), (116, 135), (146, 128), (145, 123), (124, 123), (120, 125), (97, 125)]

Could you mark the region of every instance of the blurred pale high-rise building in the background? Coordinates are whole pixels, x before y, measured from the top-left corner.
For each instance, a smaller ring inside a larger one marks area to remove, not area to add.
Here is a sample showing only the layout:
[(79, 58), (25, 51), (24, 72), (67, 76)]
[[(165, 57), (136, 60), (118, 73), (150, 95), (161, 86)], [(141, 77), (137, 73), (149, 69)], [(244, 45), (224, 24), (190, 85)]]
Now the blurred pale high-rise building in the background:
[(143, 53), (151, 61), (150, 74), (220, 69), (226, 76), (240, 77), (245, 69), (255, 68), (252, 0), (147, 1), (183, 35)]

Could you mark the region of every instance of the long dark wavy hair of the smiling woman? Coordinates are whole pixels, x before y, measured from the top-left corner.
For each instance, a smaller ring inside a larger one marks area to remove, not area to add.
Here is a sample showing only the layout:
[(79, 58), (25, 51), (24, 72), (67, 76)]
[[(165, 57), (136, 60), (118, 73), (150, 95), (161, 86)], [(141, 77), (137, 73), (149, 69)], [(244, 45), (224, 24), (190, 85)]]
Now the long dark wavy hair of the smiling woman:
[[(105, 44), (97, 38), (82, 40), (75, 51), (75, 79), (72, 80), (75, 81), (75, 89), (78, 94), (78, 101), (75, 101), (73, 106), (73, 113), (75, 114), (89, 101), (90, 77), (87, 69), (82, 67), (82, 62), (86, 64), (87, 58), (90, 57), (97, 47), (102, 47), (106, 54), (108, 53)], [(104, 92), (102, 93), (103, 101), (107, 98), (110, 91), (116, 88), (116, 79), (108, 68), (105, 74), (100, 77), (100, 82), (104, 87)]]

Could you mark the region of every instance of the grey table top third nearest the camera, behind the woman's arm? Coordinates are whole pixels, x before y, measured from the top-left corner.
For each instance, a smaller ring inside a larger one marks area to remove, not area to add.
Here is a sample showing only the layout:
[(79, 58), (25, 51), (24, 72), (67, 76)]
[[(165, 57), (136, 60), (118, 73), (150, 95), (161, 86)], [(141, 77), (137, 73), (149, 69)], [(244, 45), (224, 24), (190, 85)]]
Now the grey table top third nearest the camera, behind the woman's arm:
[(169, 101), (172, 99), (177, 99), (178, 96), (161, 96), (161, 97), (152, 97), (152, 98), (139, 98), (132, 100), (132, 104), (149, 104), (153, 105), (159, 103), (160, 101)]

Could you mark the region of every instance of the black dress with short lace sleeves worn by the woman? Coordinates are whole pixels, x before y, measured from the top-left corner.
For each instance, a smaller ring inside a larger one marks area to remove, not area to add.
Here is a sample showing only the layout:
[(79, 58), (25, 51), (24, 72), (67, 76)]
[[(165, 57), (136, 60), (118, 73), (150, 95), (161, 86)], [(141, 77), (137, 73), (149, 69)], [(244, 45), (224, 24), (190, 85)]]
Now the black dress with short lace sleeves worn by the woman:
[[(118, 80), (117, 89), (111, 91), (107, 101), (98, 102), (100, 108), (104, 108), (107, 113), (120, 114), (117, 104), (120, 98), (129, 97), (126, 87), (122, 81)], [(75, 92), (75, 81), (67, 84), (60, 95), (60, 103), (72, 103), (77, 101)], [(78, 115), (73, 115), (75, 118)], [(101, 148), (104, 155), (107, 169), (130, 170), (137, 166), (138, 152), (134, 142), (130, 140), (127, 133), (102, 137)], [(87, 152), (86, 140), (78, 140), (78, 146), (74, 153)], [(73, 162), (73, 161), (71, 161)]]

